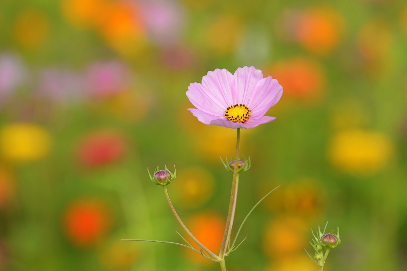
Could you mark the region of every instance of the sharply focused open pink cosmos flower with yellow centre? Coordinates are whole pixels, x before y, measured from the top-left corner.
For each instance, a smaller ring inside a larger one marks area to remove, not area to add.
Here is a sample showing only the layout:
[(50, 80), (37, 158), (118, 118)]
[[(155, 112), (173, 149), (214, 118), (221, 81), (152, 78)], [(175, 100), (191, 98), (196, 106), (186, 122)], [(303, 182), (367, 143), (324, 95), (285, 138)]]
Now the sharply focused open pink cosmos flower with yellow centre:
[(253, 128), (275, 120), (264, 116), (282, 95), (282, 86), (271, 76), (263, 78), (254, 67), (209, 71), (202, 84), (192, 83), (187, 96), (196, 108), (189, 111), (204, 124), (227, 128)]

